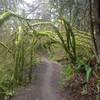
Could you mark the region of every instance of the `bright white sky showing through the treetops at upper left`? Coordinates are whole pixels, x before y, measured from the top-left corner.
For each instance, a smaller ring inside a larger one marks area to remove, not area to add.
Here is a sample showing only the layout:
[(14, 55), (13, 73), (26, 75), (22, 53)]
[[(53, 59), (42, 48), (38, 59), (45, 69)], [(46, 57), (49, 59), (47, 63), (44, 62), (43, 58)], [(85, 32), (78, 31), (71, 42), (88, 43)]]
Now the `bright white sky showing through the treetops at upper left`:
[[(51, 18), (46, 16), (48, 12), (51, 12)], [(24, 0), (23, 3), (19, 3), (17, 10), (19, 15), (29, 19), (47, 19), (51, 21), (54, 21), (55, 19), (55, 16), (53, 15), (54, 12), (55, 15), (58, 14), (56, 13), (56, 9), (51, 8), (49, 0)], [(45, 18), (43, 18), (43, 16)]]

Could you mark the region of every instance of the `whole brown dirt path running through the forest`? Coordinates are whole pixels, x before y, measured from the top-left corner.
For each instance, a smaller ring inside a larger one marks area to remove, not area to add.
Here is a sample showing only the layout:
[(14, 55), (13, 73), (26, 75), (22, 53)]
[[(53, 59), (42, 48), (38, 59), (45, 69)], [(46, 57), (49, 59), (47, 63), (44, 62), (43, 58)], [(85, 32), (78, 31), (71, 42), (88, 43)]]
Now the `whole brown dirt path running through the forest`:
[(60, 66), (47, 58), (42, 62), (36, 82), (20, 89), (11, 100), (70, 100), (61, 96), (58, 89)]

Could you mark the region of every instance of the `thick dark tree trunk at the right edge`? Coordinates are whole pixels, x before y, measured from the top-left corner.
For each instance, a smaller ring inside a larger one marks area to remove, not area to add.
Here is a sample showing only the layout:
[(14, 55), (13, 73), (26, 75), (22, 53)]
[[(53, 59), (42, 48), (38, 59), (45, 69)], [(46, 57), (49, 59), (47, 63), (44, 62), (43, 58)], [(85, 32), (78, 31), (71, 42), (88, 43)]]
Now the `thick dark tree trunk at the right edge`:
[(98, 63), (100, 63), (100, 0), (94, 0), (95, 8), (95, 39), (98, 51)]

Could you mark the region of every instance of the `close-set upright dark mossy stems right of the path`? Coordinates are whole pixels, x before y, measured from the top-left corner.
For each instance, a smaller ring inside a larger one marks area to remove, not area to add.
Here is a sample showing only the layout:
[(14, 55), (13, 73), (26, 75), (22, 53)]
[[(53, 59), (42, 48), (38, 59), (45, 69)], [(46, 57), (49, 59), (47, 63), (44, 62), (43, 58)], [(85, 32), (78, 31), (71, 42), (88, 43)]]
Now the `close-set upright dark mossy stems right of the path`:
[(72, 60), (72, 63), (76, 63), (76, 40), (75, 40), (75, 34), (73, 33), (73, 30), (70, 26), (70, 24), (63, 19), (64, 27), (66, 30), (66, 38), (67, 38), (67, 48), (69, 51), (69, 56)]

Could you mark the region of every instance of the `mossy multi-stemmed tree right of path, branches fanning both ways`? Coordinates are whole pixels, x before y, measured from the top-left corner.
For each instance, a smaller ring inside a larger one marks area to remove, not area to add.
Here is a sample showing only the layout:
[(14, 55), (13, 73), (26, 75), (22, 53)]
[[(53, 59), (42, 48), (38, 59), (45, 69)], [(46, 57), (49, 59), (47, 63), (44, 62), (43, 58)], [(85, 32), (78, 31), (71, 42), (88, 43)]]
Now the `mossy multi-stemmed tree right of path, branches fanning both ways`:
[(63, 24), (58, 24), (60, 24), (63, 27), (64, 32), (60, 32), (60, 30), (57, 27), (55, 27), (55, 24), (52, 24), (50, 22), (40, 22), (34, 24), (33, 26), (52, 26), (53, 30), (51, 32), (43, 32), (41, 36), (47, 36), (53, 41), (53, 43), (59, 44), (61, 47), (63, 47), (66, 56), (69, 55), (70, 60), (74, 64), (77, 60), (76, 58), (79, 56), (90, 57), (93, 54), (93, 50), (91, 49), (92, 40), (89, 33), (79, 31), (76, 28), (73, 28), (65, 19), (61, 19), (61, 22), (63, 22)]

